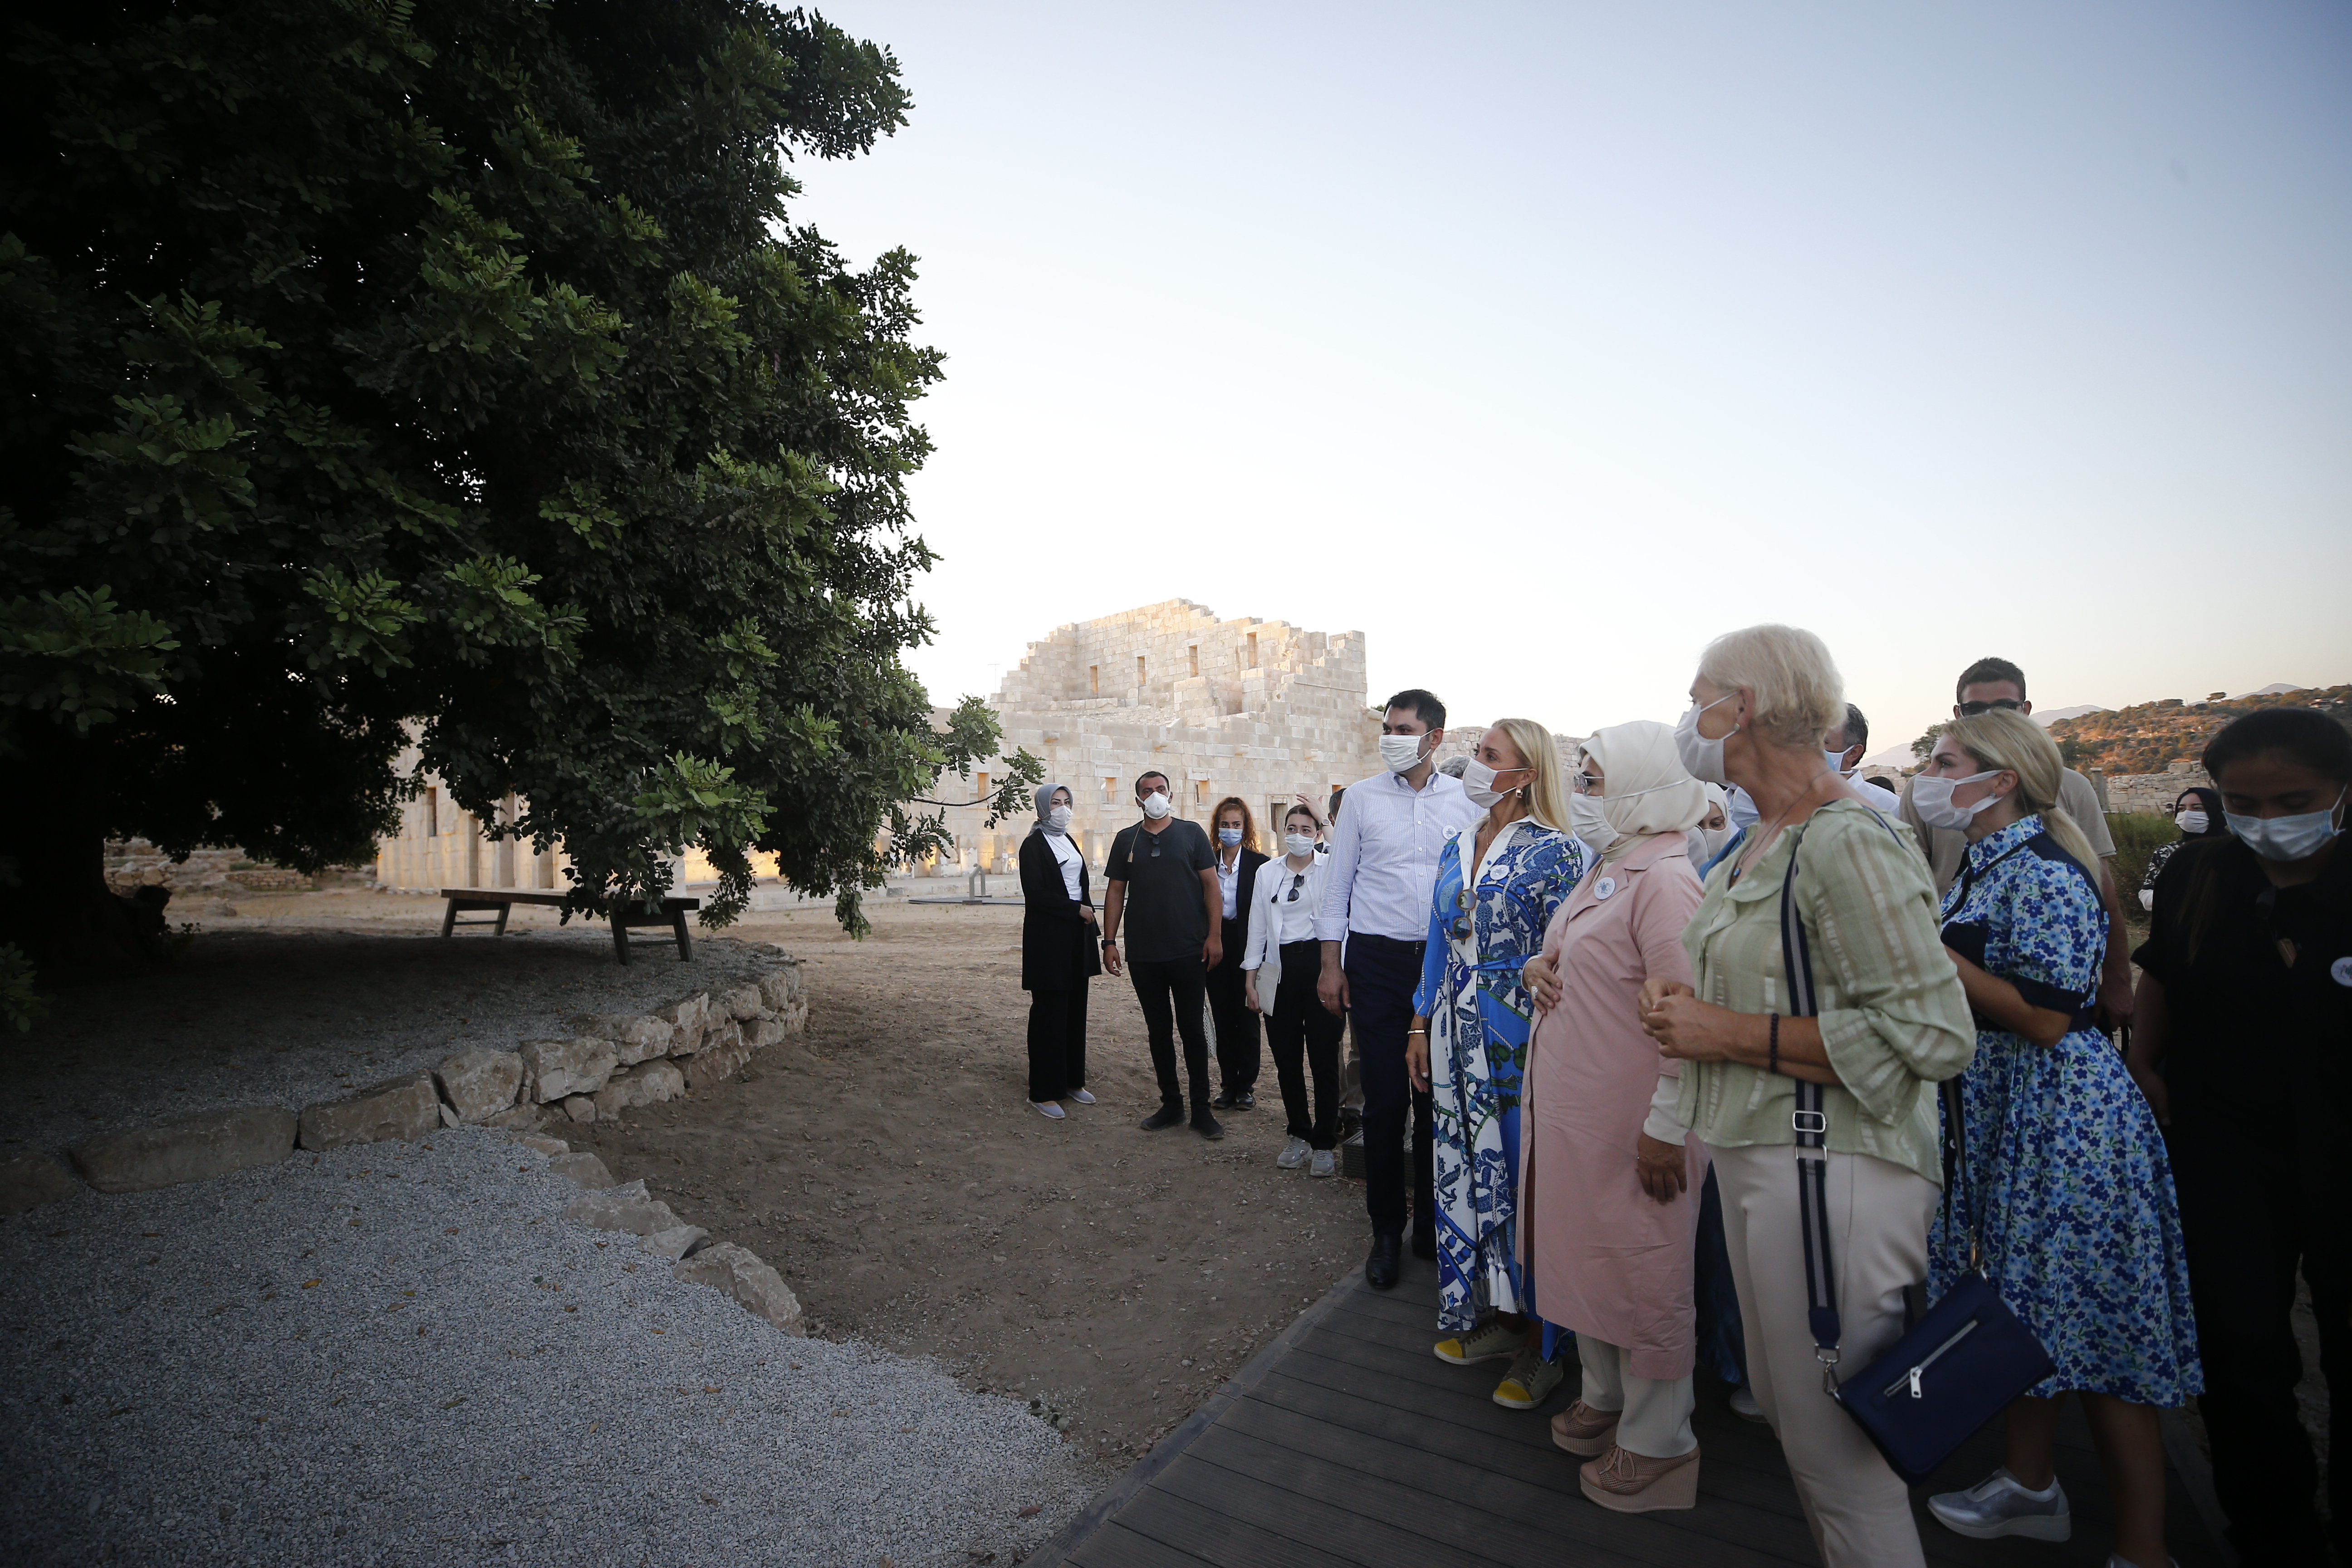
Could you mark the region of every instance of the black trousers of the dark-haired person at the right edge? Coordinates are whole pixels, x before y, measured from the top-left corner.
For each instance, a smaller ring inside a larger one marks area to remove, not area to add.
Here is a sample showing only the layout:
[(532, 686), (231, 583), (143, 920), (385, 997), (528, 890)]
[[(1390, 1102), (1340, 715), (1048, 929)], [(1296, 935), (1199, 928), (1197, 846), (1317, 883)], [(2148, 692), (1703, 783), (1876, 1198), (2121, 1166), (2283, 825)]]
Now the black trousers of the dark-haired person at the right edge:
[[(2279, 1143), (2234, 1128), (2180, 1128), (2166, 1143), (2197, 1307), (2197, 1399), (2213, 1439), (2213, 1490), (2244, 1563), (2319, 1559), (2319, 1465), (2296, 1408), (2303, 1356), (2296, 1269), (2312, 1286), (2328, 1382), (2328, 1512), (2352, 1561), (2352, 1237), (2343, 1178), (2279, 1180)], [(2333, 1192), (2331, 1192), (2333, 1190)]]

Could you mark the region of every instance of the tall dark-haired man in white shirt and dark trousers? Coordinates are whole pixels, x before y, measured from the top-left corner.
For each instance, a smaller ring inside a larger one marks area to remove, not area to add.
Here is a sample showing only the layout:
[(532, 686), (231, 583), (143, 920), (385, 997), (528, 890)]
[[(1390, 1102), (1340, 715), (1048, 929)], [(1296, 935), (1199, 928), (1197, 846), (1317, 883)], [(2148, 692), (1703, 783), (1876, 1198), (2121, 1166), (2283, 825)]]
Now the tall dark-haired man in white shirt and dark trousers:
[[(1348, 809), (1331, 827), (1331, 858), (1315, 938), (1322, 943), (1317, 994), (1355, 1023), (1364, 1063), (1364, 1208), (1371, 1213), (1371, 1255), (1364, 1281), (1376, 1291), (1397, 1284), (1404, 1222), (1418, 1211), (1414, 1253), (1437, 1255), (1432, 1229), (1435, 1180), (1430, 1159), (1430, 1095), (1404, 1077), (1404, 1039), (1414, 1025), (1414, 990), (1430, 933), (1437, 891), (1437, 851), (1446, 835), (1479, 811), (1458, 778), (1430, 757), (1446, 738), (1446, 705), (1409, 689), (1388, 698), (1381, 717), (1376, 773), (1348, 790)], [(1345, 959), (1341, 943), (1345, 943)], [(1406, 1201), (1404, 1119), (1414, 1112), (1414, 1201)]]

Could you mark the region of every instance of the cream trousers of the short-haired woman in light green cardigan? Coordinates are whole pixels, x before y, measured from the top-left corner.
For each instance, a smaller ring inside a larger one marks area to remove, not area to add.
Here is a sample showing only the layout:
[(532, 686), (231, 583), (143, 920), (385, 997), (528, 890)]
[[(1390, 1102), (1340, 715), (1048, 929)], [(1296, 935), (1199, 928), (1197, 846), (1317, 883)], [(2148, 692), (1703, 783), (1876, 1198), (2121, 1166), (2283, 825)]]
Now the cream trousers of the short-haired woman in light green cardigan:
[[(1708, 1150), (1724, 1194), (1724, 1244), (1748, 1328), (1748, 1387), (1780, 1439), (1804, 1521), (1828, 1568), (1924, 1568), (1900, 1476), (1820, 1387), (1804, 1300), (1797, 1152)], [(1903, 1288), (1926, 1279), (1936, 1182), (1870, 1154), (1830, 1154), (1830, 1262), (1842, 1368), (1903, 1338)]]

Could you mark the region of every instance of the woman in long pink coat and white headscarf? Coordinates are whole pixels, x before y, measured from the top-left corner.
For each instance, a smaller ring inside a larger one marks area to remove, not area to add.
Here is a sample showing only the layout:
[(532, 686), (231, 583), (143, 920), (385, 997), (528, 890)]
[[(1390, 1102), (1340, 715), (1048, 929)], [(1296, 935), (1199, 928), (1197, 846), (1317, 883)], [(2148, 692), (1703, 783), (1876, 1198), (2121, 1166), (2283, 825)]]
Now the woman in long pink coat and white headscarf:
[[(1708, 795), (1668, 724), (1583, 743), (1581, 780), (1611, 842), (1526, 964), (1536, 1032), (1522, 1112), (1519, 1246), (1543, 1316), (1576, 1331), (1583, 1396), (1552, 1441), (1597, 1455), (1578, 1479), (1623, 1514), (1698, 1502), (1691, 1434), (1691, 1239), (1705, 1147), (1675, 1121), (1682, 1063), (1658, 1056), (1642, 983), (1691, 983), (1682, 929), (1698, 910), (1684, 830)], [(1576, 783), (1576, 780), (1571, 780)]]

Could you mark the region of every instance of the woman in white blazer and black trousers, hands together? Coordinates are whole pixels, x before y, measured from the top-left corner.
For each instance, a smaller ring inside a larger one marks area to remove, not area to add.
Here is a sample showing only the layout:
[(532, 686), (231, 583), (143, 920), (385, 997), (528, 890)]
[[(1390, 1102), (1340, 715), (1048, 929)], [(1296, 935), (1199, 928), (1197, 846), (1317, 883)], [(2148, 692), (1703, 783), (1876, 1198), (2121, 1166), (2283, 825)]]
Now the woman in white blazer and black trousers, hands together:
[[(1282, 1084), (1282, 1112), (1291, 1140), (1275, 1164), (1296, 1171), (1312, 1161), (1315, 1175), (1338, 1175), (1338, 1039), (1345, 1020), (1315, 997), (1322, 943), (1315, 910), (1322, 907), (1324, 858), (1315, 851), (1315, 809), (1298, 804), (1282, 818), (1279, 860), (1258, 867), (1249, 898), (1249, 938), (1242, 952), (1244, 999), (1265, 1016), (1265, 1046)], [(1315, 1103), (1308, 1114), (1308, 1072)]]

